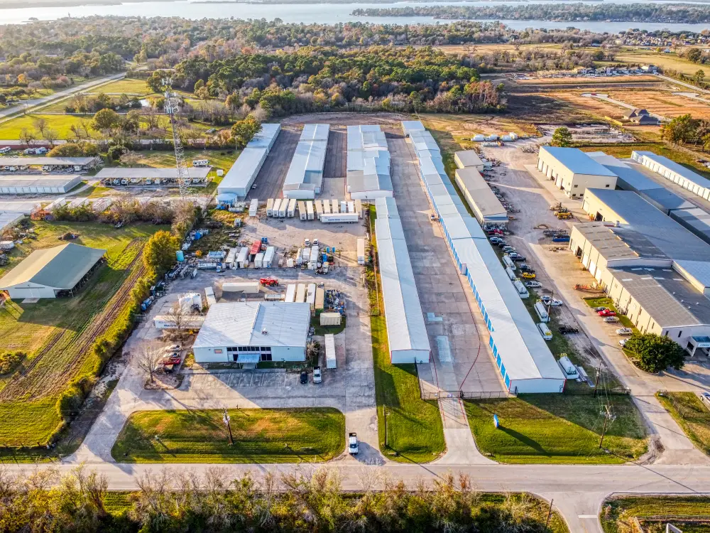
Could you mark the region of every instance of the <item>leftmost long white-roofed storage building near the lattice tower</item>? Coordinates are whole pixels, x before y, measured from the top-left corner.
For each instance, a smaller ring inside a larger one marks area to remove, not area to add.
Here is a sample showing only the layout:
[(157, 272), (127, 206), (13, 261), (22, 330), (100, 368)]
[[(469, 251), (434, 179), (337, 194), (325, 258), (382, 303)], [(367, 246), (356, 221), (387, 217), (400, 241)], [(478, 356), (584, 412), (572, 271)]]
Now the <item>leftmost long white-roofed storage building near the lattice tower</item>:
[(281, 124), (261, 124), (261, 131), (249, 141), (234, 161), (234, 165), (224, 175), (222, 183), (217, 185), (219, 195), (233, 194), (236, 198), (246, 197), (279, 131), (281, 131)]

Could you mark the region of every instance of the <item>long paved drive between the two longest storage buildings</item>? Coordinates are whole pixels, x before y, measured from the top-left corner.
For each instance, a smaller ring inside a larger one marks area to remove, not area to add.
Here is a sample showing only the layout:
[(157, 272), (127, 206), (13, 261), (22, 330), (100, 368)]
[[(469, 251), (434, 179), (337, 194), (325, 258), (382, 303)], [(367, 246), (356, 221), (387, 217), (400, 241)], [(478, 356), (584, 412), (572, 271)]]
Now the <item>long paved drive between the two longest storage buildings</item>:
[(473, 294), (464, 286), (444, 242), (430, 221), (430, 204), (416, 156), (400, 131), (388, 131), (393, 187), (434, 354), (419, 365), (427, 391), (502, 392), (505, 385), (488, 349), (488, 337)]

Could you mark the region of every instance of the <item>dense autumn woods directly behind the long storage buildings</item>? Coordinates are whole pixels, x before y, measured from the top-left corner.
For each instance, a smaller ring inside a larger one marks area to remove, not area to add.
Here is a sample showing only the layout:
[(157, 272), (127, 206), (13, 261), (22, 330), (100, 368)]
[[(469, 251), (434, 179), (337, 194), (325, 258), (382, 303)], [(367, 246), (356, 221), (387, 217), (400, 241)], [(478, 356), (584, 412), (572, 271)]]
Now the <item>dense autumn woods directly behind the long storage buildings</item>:
[[(480, 112), (505, 108), (502, 86), (479, 81), (473, 62), (435, 48), (339, 50), (303, 47), (295, 53), (251, 53), (175, 65), (173, 86), (224, 98), (259, 119), (355, 104), (354, 109)], [(160, 70), (148, 78), (158, 90)]]

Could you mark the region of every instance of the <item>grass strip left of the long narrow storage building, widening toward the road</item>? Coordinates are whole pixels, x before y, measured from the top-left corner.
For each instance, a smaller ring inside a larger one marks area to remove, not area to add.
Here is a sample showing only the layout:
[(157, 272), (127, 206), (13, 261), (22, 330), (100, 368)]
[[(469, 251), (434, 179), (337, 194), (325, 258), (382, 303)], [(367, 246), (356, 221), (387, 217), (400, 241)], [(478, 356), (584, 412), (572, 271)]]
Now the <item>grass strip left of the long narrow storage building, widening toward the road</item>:
[[(375, 210), (371, 206), (373, 233), (374, 218)], [(374, 235), (372, 247), (376, 253)], [(378, 286), (381, 286), (379, 279)], [(378, 294), (377, 298), (380, 308), (384, 309), (382, 295)], [(370, 328), (380, 451), (391, 460), (403, 463), (433, 461), (446, 449), (439, 406), (435, 401), (422, 400), (416, 365), (391, 364), (384, 313), (371, 316)], [(388, 446), (385, 446), (385, 428)]]

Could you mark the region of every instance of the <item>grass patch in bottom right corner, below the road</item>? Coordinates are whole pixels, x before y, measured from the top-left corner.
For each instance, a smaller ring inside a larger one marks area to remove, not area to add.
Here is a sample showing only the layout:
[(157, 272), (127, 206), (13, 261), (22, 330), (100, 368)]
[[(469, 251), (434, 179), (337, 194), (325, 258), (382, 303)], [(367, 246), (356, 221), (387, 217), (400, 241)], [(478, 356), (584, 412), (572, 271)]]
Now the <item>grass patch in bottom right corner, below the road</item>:
[[(626, 533), (632, 530), (629, 524), (634, 517), (649, 533), (664, 532), (666, 522), (679, 527), (683, 533), (704, 533), (710, 529), (710, 497), (616, 496), (603, 502), (599, 521), (605, 533)], [(706, 522), (683, 520), (688, 518)]]

